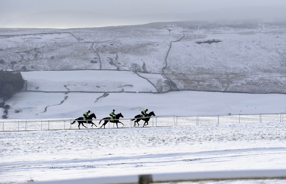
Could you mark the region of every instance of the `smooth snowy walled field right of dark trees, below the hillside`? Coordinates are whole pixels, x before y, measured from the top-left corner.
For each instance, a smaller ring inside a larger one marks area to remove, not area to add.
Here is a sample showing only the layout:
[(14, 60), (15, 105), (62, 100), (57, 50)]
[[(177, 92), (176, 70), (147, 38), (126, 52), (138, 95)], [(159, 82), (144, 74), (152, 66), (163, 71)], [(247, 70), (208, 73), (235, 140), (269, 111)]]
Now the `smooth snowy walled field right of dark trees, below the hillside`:
[(34, 71), (21, 74), (28, 81), (28, 91), (157, 92), (147, 79), (129, 71)]

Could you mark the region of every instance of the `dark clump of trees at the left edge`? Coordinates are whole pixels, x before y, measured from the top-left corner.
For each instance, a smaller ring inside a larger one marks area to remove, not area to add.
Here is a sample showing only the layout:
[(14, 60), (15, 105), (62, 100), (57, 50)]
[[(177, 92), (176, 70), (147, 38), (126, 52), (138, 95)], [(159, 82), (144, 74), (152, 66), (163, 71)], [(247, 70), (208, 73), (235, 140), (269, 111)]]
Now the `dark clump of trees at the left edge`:
[(8, 100), (23, 88), (24, 83), (21, 72), (0, 70), (0, 99)]

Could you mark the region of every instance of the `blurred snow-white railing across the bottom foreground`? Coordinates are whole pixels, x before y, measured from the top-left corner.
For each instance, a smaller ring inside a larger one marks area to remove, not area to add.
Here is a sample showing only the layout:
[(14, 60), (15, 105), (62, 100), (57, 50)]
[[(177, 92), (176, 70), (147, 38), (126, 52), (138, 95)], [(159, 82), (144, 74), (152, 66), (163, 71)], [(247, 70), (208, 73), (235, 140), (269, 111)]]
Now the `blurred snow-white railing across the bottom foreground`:
[(202, 171), (188, 173), (165, 173), (150, 175), (129, 175), (116, 177), (83, 178), (37, 182), (37, 184), (149, 184), (158, 182), (180, 182), (198, 180), (246, 180), (246, 179), (285, 179), (286, 170), (237, 170)]

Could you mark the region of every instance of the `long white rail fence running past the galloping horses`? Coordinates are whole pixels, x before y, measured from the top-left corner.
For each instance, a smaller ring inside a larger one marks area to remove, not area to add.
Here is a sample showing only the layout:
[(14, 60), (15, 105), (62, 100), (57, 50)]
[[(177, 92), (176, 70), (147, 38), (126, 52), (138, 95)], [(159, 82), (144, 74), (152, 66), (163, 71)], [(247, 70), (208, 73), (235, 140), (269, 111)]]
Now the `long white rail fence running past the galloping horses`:
[[(215, 125), (215, 124), (234, 124), (234, 123), (278, 123), (285, 122), (285, 113), (272, 114), (239, 114), (239, 115), (213, 115), (213, 116), (152, 116), (148, 122), (150, 126), (191, 126), (191, 125)], [(74, 118), (75, 119), (75, 118)], [(6, 131), (31, 131), (31, 130), (62, 130), (78, 129), (78, 123), (71, 124), (74, 119), (42, 119), (42, 120), (0, 120), (0, 132)], [(138, 124), (131, 121), (134, 118), (120, 118), (119, 128), (138, 127)], [(93, 119), (92, 124), (86, 124), (90, 128), (99, 128), (104, 120)], [(139, 121), (139, 127), (142, 127), (144, 120)], [(86, 129), (80, 125), (81, 129)], [(102, 126), (102, 128), (104, 128)], [(108, 122), (105, 128), (117, 128), (116, 123)]]

